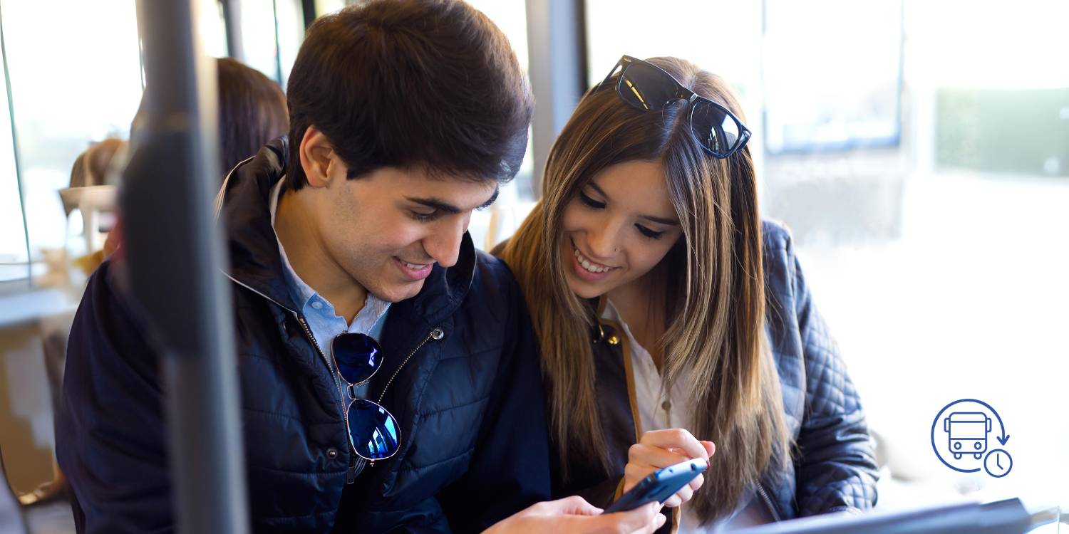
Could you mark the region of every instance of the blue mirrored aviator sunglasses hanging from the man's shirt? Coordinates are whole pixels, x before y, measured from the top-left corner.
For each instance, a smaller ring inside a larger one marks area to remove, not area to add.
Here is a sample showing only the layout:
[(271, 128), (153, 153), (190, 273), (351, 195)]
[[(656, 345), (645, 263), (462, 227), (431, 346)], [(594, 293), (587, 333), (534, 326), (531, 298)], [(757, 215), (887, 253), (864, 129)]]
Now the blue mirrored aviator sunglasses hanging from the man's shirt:
[(393, 415), (356, 395), (356, 388), (371, 380), (382, 366), (382, 352), (374, 337), (361, 333), (340, 333), (330, 343), (335, 368), (345, 381), (350, 399), (345, 409), (348, 442), (354, 453), (372, 462), (393, 456), (401, 444), (401, 428)]

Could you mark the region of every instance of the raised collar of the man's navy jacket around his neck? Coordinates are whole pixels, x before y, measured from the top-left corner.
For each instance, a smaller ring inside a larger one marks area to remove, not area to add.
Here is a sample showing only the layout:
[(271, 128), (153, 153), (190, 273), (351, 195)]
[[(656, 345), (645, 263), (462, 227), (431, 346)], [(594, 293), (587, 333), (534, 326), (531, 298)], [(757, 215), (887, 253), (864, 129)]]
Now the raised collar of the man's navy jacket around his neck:
[[(284, 137), (268, 142), (252, 158), (235, 167), (223, 182), (217, 209), (227, 231), (230, 270), (227, 274), (241, 285), (297, 313), (285, 283), (275, 229), (270, 223), (270, 190), (285, 173), (289, 145)], [(456, 265), (437, 264), (415, 297), (391, 307), (437, 323), (452, 314), (464, 301), (478, 254), (471, 237), (464, 234)]]

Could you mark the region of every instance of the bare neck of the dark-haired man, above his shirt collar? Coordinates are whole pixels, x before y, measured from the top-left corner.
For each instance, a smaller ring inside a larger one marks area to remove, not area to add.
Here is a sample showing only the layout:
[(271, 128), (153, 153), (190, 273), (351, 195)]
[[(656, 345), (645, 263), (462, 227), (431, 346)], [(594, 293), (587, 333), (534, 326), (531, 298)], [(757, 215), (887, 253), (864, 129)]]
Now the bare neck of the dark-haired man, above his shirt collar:
[(330, 302), (335, 313), (352, 323), (363, 309), (368, 292), (327, 252), (323, 236), (308, 217), (304, 202), (305, 199), (293, 191), (279, 198), (275, 233), (297, 277)]

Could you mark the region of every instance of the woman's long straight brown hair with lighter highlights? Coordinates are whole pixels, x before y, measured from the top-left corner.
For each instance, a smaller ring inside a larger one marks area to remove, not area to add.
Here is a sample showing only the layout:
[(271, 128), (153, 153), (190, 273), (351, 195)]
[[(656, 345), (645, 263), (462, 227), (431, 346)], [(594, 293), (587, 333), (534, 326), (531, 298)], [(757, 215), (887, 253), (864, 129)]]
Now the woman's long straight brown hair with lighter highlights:
[[(685, 87), (735, 115), (735, 98), (718, 77), (673, 59), (654, 58)], [(693, 501), (702, 521), (730, 513), (743, 491), (790, 454), (779, 379), (764, 331), (761, 219), (749, 150), (727, 159), (708, 154), (690, 131), (682, 103), (640, 112), (611, 88), (579, 101), (546, 161), (542, 200), (501, 250), (524, 289), (542, 351), (551, 429), (569, 466), (608, 459), (595, 394), (588, 302), (573, 294), (561, 257), (564, 208), (602, 170), (625, 161), (660, 161), (683, 237), (648, 276), (663, 276), (666, 388), (688, 394), (698, 439), (716, 443), (706, 484)], [(654, 347), (651, 347), (654, 348)], [(637, 422), (636, 422), (637, 423)]]

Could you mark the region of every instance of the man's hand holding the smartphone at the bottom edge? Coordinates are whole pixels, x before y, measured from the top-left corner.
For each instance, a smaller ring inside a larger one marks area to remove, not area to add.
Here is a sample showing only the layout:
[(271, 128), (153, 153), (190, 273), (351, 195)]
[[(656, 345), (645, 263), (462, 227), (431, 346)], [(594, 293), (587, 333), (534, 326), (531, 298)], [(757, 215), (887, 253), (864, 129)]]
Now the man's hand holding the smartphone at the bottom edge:
[(631, 512), (600, 515), (601, 508), (582, 497), (540, 502), (497, 522), (483, 534), (652, 534), (665, 523), (661, 505), (650, 503)]

